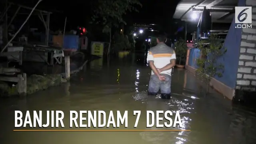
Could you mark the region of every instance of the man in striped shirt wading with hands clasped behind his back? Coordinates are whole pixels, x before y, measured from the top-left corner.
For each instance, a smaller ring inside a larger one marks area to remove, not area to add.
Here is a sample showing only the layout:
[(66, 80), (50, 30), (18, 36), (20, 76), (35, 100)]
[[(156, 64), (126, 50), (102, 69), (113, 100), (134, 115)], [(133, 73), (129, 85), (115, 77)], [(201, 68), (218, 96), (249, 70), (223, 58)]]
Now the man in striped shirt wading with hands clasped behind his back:
[(148, 52), (148, 64), (152, 69), (148, 94), (156, 95), (160, 89), (162, 99), (170, 99), (171, 73), (176, 64), (176, 55), (174, 49), (164, 43), (165, 40), (164, 34), (158, 35), (158, 44)]

